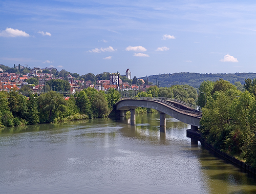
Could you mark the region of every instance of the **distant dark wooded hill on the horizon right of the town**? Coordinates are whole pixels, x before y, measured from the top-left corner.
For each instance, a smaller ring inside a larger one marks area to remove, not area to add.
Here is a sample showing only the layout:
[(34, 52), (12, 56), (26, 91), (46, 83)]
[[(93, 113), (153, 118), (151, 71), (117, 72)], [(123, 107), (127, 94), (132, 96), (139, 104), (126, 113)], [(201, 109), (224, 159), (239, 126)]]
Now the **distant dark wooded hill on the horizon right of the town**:
[(156, 84), (158, 81), (159, 87), (170, 87), (175, 84), (188, 84), (194, 88), (198, 88), (201, 82), (209, 80), (216, 81), (221, 79), (227, 80), (234, 84), (236, 81), (240, 81), (242, 84), (245, 83), (245, 79), (256, 78), (256, 73), (173, 73), (173, 74), (159, 74), (151, 75), (147, 77), (141, 77), (141, 79), (147, 80)]

